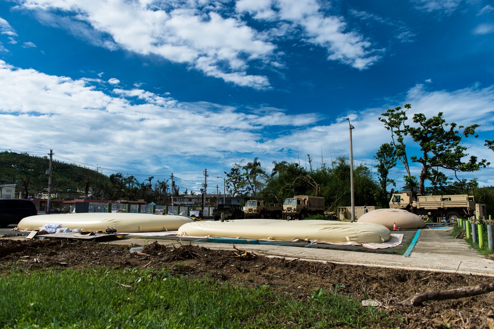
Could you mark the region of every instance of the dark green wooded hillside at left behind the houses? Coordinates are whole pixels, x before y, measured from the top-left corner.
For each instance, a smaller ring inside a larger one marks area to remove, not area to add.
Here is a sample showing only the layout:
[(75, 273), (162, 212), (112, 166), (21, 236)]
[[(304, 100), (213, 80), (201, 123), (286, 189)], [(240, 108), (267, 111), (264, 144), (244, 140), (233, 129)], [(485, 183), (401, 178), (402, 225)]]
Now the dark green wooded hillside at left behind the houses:
[[(0, 183), (16, 184), (17, 195), (21, 191), (22, 197), (34, 196), (36, 193), (47, 191), (49, 157), (37, 157), (27, 153), (1, 152), (0, 153)], [(66, 164), (53, 160), (52, 162), (52, 192), (82, 191), (86, 188), (95, 189), (95, 195), (101, 195), (111, 186), (108, 176), (81, 167), (76, 164)]]

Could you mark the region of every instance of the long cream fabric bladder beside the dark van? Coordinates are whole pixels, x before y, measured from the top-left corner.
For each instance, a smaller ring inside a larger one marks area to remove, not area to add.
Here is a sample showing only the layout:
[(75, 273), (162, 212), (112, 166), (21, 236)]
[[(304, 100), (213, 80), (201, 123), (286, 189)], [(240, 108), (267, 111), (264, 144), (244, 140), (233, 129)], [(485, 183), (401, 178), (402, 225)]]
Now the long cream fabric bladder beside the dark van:
[(37, 231), (45, 224), (60, 224), (82, 231), (105, 231), (114, 228), (117, 232), (161, 232), (177, 230), (194, 219), (181, 215), (155, 215), (149, 213), (91, 212), (37, 215), (23, 218), (17, 225), (19, 230)]

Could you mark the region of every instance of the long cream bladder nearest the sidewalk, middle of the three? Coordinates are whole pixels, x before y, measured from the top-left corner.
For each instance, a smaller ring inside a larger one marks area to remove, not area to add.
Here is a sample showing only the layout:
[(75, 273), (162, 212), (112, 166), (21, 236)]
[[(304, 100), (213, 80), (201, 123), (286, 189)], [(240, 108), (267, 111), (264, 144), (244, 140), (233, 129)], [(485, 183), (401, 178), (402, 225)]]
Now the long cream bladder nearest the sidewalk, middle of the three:
[(241, 219), (225, 222), (193, 222), (178, 229), (179, 236), (221, 237), (278, 241), (321, 241), (379, 243), (390, 239), (390, 231), (379, 224), (357, 224), (329, 220)]

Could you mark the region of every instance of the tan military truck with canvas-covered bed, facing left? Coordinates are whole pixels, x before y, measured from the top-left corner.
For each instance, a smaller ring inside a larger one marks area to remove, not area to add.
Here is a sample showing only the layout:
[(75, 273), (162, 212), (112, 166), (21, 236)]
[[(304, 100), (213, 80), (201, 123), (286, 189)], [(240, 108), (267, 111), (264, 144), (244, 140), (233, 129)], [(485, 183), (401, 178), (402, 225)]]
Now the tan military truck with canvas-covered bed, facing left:
[(308, 195), (296, 195), (285, 199), (283, 203), (284, 219), (305, 219), (310, 215), (324, 215), (324, 198)]

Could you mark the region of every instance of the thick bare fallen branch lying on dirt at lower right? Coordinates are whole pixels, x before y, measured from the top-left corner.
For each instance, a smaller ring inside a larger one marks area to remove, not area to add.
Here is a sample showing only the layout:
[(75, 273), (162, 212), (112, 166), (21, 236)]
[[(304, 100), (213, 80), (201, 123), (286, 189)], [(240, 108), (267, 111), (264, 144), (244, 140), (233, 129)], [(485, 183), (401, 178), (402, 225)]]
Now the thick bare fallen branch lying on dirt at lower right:
[(405, 306), (417, 306), (421, 305), (422, 302), (427, 300), (457, 299), (462, 297), (477, 296), (491, 291), (494, 291), (494, 282), (451, 290), (420, 292), (411, 297), (408, 297), (404, 301), (401, 301), (397, 304), (402, 304)]

